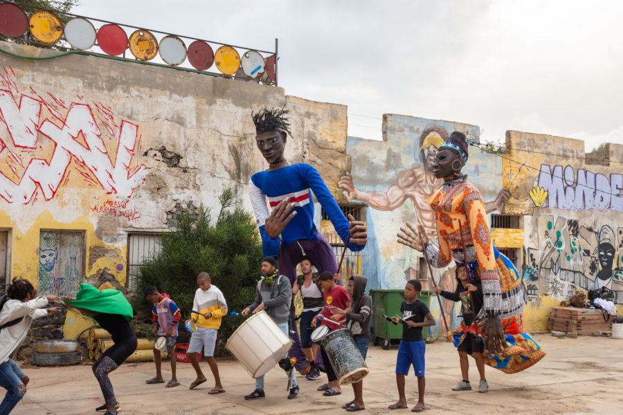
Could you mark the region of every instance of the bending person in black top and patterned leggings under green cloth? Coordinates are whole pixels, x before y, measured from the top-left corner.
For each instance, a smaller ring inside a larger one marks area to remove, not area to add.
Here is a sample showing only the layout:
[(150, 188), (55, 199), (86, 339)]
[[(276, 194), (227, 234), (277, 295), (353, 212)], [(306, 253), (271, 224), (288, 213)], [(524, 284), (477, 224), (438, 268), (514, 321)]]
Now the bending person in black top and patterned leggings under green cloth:
[[(85, 284), (82, 284), (85, 285)], [(97, 289), (97, 288), (96, 288)], [(109, 291), (109, 290), (105, 290)], [(125, 301), (125, 297), (119, 292), (119, 297), (116, 301)], [(105, 300), (106, 302), (106, 300)], [(66, 302), (69, 304), (69, 302)], [(125, 305), (125, 304), (124, 304)], [(128, 356), (130, 356), (136, 350), (138, 341), (136, 340), (136, 334), (134, 329), (129, 325), (127, 317), (122, 314), (116, 313), (102, 313), (101, 311), (89, 310), (84, 308), (86, 306), (78, 307), (73, 304), (69, 304), (73, 308), (76, 308), (80, 313), (93, 317), (93, 320), (98, 322), (102, 329), (105, 329), (111, 334), (111, 338), (114, 344), (107, 349), (102, 356), (96, 360), (93, 364), (93, 374), (100, 384), (102, 394), (104, 395), (105, 404), (97, 407), (96, 411), (106, 410), (105, 415), (117, 415), (118, 402), (115, 398), (112, 384), (108, 374), (114, 371), (121, 365)], [(127, 304), (129, 306), (129, 304)], [(93, 308), (99, 310), (104, 309), (100, 304), (93, 304)], [(111, 308), (107, 306), (105, 308)], [(114, 308), (112, 308), (114, 310)], [(130, 307), (131, 309), (131, 307)]]

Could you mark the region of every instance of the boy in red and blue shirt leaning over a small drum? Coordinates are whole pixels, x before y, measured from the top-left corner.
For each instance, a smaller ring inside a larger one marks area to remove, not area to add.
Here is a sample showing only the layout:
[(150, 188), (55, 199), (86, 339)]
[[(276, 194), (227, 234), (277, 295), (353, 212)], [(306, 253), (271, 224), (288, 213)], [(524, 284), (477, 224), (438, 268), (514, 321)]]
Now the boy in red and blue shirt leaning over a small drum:
[[(177, 376), (175, 375), (175, 342), (177, 338), (177, 326), (181, 318), (181, 312), (175, 302), (166, 294), (161, 294), (158, 288), (149, 286), (145, 289), (145, 298), (147, 301), (154, 303), (152, 308), (152, 318), (154, 320), (154, 335), (156, 340), (161, 337), (166, 338), (167, 352), (169, 361), (171, 362), (171, 380), (166, 387), (179, 386)], [(161, 372), (161, 355), (159, 349), (154, 347), (154, 360), (156, 361), (156, 377), (145, 380), (145, 383), (152, 385), (153, 383), (164, 383)]]

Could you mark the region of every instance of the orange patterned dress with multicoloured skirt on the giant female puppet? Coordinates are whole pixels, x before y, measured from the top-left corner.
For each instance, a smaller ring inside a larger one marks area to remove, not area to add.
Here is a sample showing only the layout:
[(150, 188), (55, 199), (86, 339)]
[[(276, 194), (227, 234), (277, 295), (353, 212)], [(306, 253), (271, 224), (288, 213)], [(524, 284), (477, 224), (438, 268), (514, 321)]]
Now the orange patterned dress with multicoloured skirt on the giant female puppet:
[[(439, 235), (439, 247), (432, 243), (426, 246), (431, 265), (442, 268), (452, 260), (464, 264), (464, 245), (469, 274), (482, 284), (483, 304), (476, 321), (481, 326), (487, 315), (499, 315), (502, 319), (509, 350), (501, 359), (487, 354), (485, 362), (506, 373), (534, 365), (545, 356), (545, 351), (530, 335), (521, 333), (524, 304), (521, 277), (514, 264), (493, 246), (480, 192), (463, 176), (444, 182), (430, 203)], [(467, 332), (476, 334), (475, 327), (462, 324), (452, 333), (455, 346)]]

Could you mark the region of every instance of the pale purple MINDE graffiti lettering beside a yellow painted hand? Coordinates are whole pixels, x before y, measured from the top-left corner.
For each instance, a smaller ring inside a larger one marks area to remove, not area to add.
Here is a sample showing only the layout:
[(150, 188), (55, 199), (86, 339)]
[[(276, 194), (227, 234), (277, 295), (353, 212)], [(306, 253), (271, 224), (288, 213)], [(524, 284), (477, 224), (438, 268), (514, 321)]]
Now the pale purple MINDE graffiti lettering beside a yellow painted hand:
[(534, 194), (547, 194), (547, 199), (537, 200), (532, 195), (532, 201), (538, 207), (546, 200), (548, 208), (568, 210), (610, 209), (623, 211), (623, 175), (611, 174), (610, 178), (601, 173), (593, 173), (586, 169), (577, 169), (561, 165), (542, 164), (539, 173), (539, 185)]

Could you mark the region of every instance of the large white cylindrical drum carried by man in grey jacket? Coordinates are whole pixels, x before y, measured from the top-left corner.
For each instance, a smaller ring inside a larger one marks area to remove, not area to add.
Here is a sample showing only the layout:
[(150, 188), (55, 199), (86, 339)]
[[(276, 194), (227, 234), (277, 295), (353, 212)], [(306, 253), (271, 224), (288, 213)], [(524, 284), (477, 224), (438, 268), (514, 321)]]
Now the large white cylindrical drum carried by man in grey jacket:
[(253, 378), (272, 369), (289, 351), (293, 341), (266, 313), (255, 313), (233, 332), (225, 344)]

